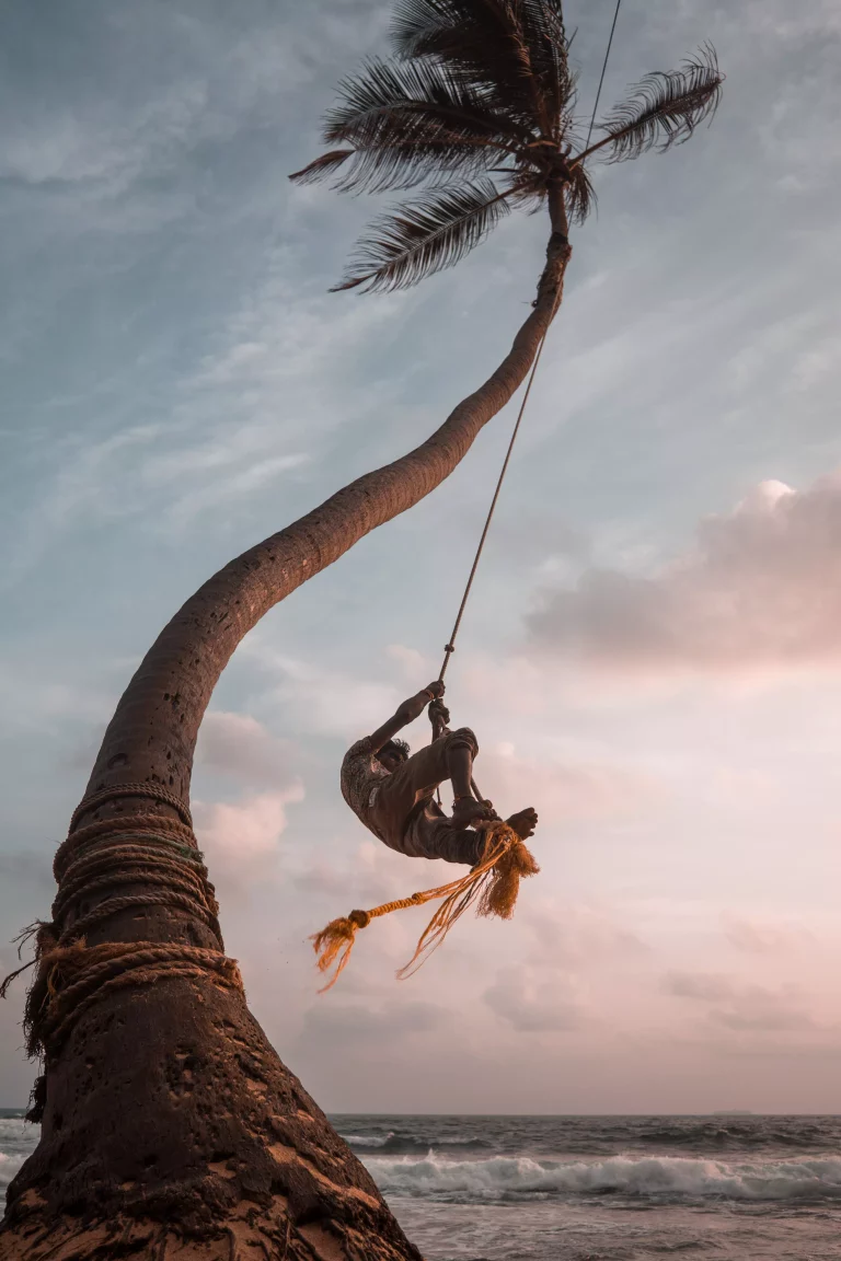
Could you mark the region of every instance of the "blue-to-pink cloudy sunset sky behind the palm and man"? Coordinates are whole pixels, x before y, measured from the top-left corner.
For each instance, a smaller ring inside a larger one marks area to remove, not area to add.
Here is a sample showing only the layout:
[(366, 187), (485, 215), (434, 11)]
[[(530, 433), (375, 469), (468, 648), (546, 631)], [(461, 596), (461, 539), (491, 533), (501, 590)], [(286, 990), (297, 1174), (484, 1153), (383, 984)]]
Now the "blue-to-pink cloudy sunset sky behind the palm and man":
[[(588, 115), (612, 0), (567, 5)], [(287, 180), (381, 0), (0, 0), (0, 971), (105, 724), (212, 572), (435, 429), (542, 264), (329, 294), (373, 198)], [(513, 421), (247, 637), (193, 807), (229, 955), (332, 1111), (837, 1112), (838, 0), (624, 0), (604, 101), (702, 40), (711, 127), (594, 168), (448, 673), (541, 874), (411, 980), (425, 912), (319, 996), (308, 936), (454, 874), (344, 806), (345, 748), (435, 677)], [(429, 738), (425, 719), (410, 741)], [(21, 1103), (18, 982), (0, 1106)]]

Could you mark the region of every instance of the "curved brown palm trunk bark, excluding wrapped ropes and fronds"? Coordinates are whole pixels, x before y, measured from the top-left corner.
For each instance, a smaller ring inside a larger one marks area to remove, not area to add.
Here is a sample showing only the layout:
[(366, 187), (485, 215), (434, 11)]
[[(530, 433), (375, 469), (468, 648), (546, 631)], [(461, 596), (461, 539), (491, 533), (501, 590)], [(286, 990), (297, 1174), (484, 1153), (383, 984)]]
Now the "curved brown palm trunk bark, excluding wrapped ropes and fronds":
[[(187, 601), (117, 705), (88, 796), (148, 782), (187, 802), (202, 716), (243, 636), (429, 494), (508, 402), (561, 299), (570, 246), (560, 197), (550, 212), (537, 300), (493, 376), (416, 450), (252, 547)], [(74, 827), (136, 810), (136, 798), (115, 794)], [(160, 802), (144, 810), (161, 820), (178, 813)], [(125, 894), (122, 876), (84, 900), (59, 880), (54, 931)], [(135, 905), (108, 912), (86, 946), (203, 947), (218, 958), (212, 917), (154, 904), (139, 912), (137, 895), (154, 890), (139, 874), (126, 898)], [(212, 973), (164, 972), (154, 985), (100, 991), (61, 1049), (48, 1050), (45, 1072), (42, 1139), (9, 1188), (1, 1261), (420, 1261), (364, 1168), (269, 1045), (242, 991)]]

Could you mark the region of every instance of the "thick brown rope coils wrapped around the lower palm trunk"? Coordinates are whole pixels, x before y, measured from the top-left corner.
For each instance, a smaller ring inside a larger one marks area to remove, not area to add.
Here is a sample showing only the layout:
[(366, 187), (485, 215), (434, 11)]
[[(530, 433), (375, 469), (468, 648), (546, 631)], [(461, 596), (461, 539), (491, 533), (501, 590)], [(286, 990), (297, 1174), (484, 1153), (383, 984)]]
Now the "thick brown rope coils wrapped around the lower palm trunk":
[[(182, 821), (150, 813), (117, 815), (74, 831), (83, 813), (126, 796), (165, 801), (178, 810)], [(154, 784), (103, 789), (73, 812), (71, 832), (53, 863), (58, 880), (53, 919), (24, 929), (18, 953), (34, 937), (34, 958), (0, 985), (0, 997), (5, 997), (16, 976), (37, 968), (24, 1013), (30, 1055), (54, 1054), (95, 1002), (125, 986), (151, 985), (171, 976), (203, 976), (227, 989), (242, 989), (236, 960), (223, 953), (216, 893), (189, 818), (183, 802)], [(96, 902), (97, 894), (115, 886), (126, 886), (126, 892)], [(95, 904), (88, 909), (90, 900)], [(137, 907), (187, 912), (211, 929), (219, 948), (154, 941), (87, 944), (86, 934), (92, 928)]]

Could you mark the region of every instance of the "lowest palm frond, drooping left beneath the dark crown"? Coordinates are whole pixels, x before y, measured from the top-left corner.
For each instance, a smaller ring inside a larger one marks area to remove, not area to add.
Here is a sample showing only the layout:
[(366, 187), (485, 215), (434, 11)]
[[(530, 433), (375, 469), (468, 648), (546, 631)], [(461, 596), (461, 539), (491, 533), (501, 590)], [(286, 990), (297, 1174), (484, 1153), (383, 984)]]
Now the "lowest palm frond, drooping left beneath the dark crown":
[(343, 281), (333, 291), (409, 289), (424, 276), (454, 266), (508, 213), (508, 195), (482, 179), (393, 207), (359, 240)]

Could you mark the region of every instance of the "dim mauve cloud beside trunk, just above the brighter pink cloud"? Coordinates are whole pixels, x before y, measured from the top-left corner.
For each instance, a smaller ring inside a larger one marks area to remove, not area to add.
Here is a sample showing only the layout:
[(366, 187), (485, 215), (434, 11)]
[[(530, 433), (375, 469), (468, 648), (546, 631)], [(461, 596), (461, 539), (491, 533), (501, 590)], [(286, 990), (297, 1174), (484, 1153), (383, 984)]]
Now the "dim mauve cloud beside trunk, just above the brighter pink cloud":
[(206, 714), (195, 750), (197, 764), (207, 770), (250, 787), (275, 789), (296, 782), (290, 769), (293, 755), (287, 740), (279, 740), (250, 714), (224, 710)]

